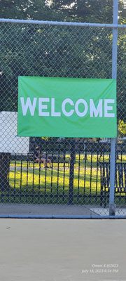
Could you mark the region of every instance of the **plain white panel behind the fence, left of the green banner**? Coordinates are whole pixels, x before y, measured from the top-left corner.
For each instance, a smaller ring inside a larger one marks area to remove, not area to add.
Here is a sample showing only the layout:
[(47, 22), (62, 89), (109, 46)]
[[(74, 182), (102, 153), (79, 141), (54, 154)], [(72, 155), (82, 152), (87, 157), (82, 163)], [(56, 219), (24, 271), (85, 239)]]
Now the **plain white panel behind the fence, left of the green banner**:
[(18, 112), (0, 112), (0, 152), (29, 152), (29, 138), (18, 137), (17, 127)]

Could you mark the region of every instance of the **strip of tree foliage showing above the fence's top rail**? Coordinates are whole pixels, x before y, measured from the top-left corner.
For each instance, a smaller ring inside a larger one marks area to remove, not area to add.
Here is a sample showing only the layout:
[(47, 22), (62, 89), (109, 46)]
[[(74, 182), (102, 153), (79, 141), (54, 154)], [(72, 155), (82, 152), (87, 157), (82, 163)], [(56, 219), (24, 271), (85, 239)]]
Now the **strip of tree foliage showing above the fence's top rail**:
[[(113, 0), (1, 0), (1, 18), (107, 22), (113, 18)], [(123, 0), (120, 19), (125, 18)]]

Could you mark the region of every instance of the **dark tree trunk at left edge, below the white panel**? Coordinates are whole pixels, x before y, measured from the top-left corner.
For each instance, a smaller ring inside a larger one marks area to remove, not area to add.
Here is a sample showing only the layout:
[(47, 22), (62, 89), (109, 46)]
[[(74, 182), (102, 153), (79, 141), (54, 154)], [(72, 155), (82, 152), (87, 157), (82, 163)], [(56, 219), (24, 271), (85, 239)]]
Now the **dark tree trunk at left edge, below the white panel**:
[(9, 189), (8, 173), (10, 169), (10, 153), (0, 153), (0, 190)]

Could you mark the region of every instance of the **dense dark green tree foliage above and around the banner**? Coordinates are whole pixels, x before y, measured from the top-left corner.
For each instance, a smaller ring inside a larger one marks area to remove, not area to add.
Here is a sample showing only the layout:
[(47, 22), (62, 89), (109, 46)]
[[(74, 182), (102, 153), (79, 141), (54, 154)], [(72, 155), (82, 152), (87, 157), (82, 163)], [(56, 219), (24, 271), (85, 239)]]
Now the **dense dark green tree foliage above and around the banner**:
[[(1, 18), (112, 22), (112, 0), (1, 0)], [(119, 21), (124, 22), (122, 1)], [(17, 110), (18, 76), (111, 78), (111, 29), (1, 24), (0, 110)], [(118, 32), (118, 118), (126, 116), (125, 30)]]

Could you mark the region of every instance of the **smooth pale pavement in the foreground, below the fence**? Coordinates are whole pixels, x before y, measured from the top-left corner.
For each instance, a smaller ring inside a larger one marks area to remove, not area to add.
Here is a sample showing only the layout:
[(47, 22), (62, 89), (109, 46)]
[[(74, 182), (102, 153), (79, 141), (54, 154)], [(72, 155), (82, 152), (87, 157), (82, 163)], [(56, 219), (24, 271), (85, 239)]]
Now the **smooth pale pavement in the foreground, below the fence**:
[(125, 220), (0, 219), (1, 281), (126, 281)]

